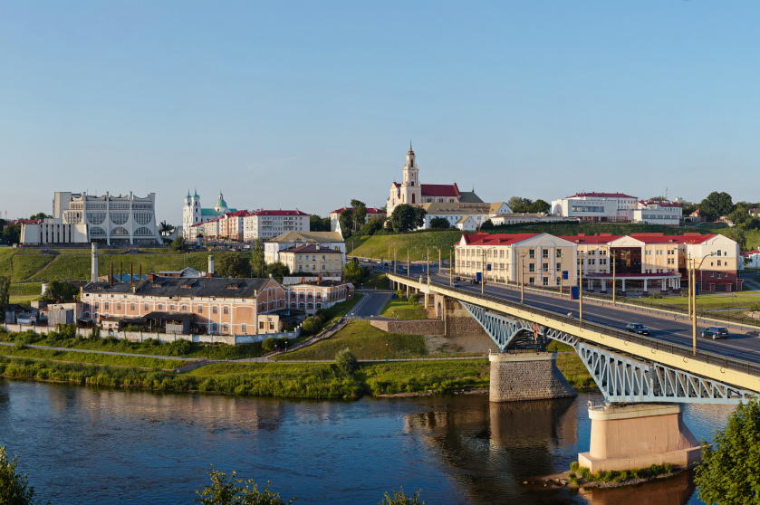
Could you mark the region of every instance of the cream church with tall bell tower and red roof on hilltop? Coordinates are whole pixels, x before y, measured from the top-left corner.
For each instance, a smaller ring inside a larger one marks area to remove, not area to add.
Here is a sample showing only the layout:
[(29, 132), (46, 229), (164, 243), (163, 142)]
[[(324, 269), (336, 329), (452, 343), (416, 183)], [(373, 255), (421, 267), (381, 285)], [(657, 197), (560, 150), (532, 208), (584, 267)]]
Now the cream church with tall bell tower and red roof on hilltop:
[(403, 170), (401, 184), (393, 182), (390, 186), (388, 198), (388, 216), (393, 214), (393, 209), (400, 204), (423, 205), (433, 203), (447, 204), (482, 204), (475, 191), (459, 191), (457, 183), (454, 184), (421, 184), (419, 182), (419, 167), (414, 157), (414, 150), (409, 142), (407, 164)]

